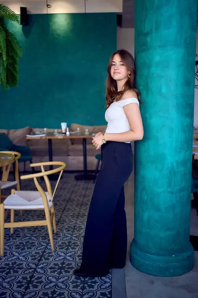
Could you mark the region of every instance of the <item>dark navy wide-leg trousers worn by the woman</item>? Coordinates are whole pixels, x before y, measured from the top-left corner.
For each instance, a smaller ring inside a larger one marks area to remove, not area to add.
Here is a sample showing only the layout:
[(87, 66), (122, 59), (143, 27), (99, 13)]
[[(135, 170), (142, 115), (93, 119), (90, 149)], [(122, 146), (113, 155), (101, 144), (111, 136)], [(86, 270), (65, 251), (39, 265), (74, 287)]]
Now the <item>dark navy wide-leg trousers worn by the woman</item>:
[(85, 229), (81, 270), (105, 276), (123, 268), (127, 253), (124, 184), (133, 170), (130, 143), (101, 146), (102, 164), (96, 180)]

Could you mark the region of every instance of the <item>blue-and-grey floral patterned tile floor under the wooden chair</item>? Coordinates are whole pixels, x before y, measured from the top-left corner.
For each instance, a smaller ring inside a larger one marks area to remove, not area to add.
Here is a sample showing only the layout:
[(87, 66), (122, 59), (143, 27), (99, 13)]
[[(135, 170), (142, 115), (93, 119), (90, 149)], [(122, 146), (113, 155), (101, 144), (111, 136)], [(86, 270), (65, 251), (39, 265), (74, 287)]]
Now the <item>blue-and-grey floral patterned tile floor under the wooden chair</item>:
[[(74, 175), (64, 173), (56, 191), (54, 252), (45, 226), (15, 228), (13, 235), (5, 230), (5, 252), (0, 257), (0, 298), (111, 298), (111, 272), (102, 278), (73, 275), (81, 263), (94, 189), (92, 181), (76, 181)], [(34, 190), (34, 182), (21, 181), (21, 189)], [(24, 211), (22, 218), (15, 212), (15, 221), (43, 217), (43, 211)]]

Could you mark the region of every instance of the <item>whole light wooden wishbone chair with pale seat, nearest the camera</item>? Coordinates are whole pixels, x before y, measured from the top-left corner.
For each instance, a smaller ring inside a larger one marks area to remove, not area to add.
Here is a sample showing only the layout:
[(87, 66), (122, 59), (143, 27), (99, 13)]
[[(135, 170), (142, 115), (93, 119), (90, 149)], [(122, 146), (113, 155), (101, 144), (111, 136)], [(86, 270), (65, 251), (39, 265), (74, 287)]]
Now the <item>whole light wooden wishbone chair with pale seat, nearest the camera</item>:
[[(45, 171), (44, 166), (48, 165), (58, 165), (59, 167), (54, 168), (53, 170)], [(4, 254), (4, 228), (10, 228), (11, 233), (14, 232), (14, 227), (24, 227), (24, 226), (39, 226), (47, 225), (49, 232), (49, 239), (51, 243), (51, 249), (54, 250), (53, 244), (53, 234), (52, 234), (52, 224), (54, 232), (56, 232), (56, 223), (55, 223), (55, 213), (53, 206), (53, 198), (55, 191), (57, 189), (60, 177), (62, 175), (63, 169), (66, 167), (66, 164), (61, 161), (50, 161), (50, 162), (40, 162), (32, 163), (31, 167), (41, 166), (41, 172), (23, 175), (21, 180), (25, 179), (34, 179), (34, 183), (38, 191), (15, 191), (11, 190), (11, 195), (9, 195), (2, 204), (0, 204), (0, 255)], [(51, 191), (51, 185), (49, 182), (48, 176), (54, 173), (58, 173), (59, 177), (55, 185), (53, 194)], [(38, 182), (39, 177), (44, 177), (47, 192), (43, 190), (41, 185)], [(6, 210), (6, 212), (5, 212)], [(11, 212), (10, 223), (5, 223), (7, 214)], [(14, 222), (14, 210), (44, 210), (46, 219), (43, 221), (28, 221), (28, 222)]]

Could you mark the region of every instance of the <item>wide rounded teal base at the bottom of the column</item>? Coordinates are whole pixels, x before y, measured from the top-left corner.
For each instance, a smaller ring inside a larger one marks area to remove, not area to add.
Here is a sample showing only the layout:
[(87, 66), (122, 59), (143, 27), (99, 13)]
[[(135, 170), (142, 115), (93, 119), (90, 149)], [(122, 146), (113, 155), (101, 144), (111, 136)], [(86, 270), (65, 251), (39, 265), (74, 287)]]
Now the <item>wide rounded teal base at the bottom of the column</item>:
[(130, 246), (130, 262), (137, 270), (154, 276), (172, 277), (191, 271), (194, 267), (194, 249), (189, 243), (187, 251), (174, 256), (155, 256), (137, 248), (135, 239)]

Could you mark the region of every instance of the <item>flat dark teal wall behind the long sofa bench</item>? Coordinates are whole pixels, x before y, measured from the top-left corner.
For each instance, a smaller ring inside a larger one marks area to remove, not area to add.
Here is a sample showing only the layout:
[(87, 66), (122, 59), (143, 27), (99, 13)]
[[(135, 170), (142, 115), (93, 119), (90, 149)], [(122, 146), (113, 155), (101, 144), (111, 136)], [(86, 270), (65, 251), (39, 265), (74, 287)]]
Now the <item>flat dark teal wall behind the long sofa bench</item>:
[(0, 87), (0, 128), (105, 124), (105, 79), (115, 13), (33, 14), (7, 24), (22, 47), (18, 86)]

